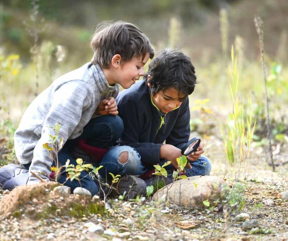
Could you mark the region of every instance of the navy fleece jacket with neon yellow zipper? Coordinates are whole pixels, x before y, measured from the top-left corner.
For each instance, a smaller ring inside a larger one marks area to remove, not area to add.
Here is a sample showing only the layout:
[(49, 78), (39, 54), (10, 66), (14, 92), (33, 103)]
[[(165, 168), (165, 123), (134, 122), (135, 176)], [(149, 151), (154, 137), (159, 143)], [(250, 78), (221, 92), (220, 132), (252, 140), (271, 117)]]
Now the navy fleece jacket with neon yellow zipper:
[[(123, 90), (116, 98), (119, 116), (124, 122), (120, 145), (134, 147), (144, 165), (160, 160), (160, 147), (166, 144), (181, 149), (190, 136), (190, 110), (188, 97), (178, 109), (164, 114), (153, 105), (150, 88), (143, 80)], [(162, 117), (162, 118), (161, 118)]]

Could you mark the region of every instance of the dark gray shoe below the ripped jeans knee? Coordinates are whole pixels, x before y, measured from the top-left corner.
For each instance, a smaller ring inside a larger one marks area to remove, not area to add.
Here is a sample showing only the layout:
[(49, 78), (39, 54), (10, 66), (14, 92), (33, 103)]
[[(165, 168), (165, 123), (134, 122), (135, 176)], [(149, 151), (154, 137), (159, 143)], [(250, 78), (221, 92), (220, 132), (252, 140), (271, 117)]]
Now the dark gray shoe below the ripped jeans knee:
[(122, 195), (126, 191), (125, 198), (134, 199), (146, 195), (146, 183), (139, 177), (126, 175), (117, 183), (116, 189)]

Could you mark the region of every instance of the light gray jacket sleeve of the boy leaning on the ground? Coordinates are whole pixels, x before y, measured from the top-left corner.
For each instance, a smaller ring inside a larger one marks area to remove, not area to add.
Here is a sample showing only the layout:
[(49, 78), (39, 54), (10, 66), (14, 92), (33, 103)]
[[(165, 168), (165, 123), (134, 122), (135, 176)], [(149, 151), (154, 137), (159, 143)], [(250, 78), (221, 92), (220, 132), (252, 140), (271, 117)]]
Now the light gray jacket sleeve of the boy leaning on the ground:
[(49, 156), (48, 151), (43, 148), (43, 144), (50, 141), (49, 134), (55, 135), (50, 126), (55, 126), (57, 122), (61, 124), (59, 139), (63, 137), (63, 143), (65, 144), (78, 125), (82, 112), (90, 105), (92, 92), (89, 90), (87, 83), (79, 84), (79, 81), (81, 80), (67, 82), (54, 92), (50, 110), (43, 123), (41, 138), (33, 151), (28, 183), (39, 182), (31, 174), (31, 171), (37, 173), (43, 179), (49, 180), (47, 176), (51, 172), (53, 159)]

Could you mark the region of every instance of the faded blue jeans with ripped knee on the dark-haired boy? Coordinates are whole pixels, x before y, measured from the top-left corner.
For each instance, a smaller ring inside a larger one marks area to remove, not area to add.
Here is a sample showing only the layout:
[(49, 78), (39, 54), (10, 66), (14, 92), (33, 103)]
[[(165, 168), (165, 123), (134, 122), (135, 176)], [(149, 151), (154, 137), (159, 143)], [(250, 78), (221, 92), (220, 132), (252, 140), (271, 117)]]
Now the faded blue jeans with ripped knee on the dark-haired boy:
[[(124, 164), (118, 161), (119, 155), (122, 152), (128, 152), (128, 161)], [(160, 165), (163, 165), (166, 162), (163, 161)], [(192, 169), (188, 169), (185, 167), (185, 174), (186, 176), (198, 176), (198, 175), (209, 175), (211, 171), (211, 163), (209, 159), (205, 156), (201, 156), (196, 161), (190, 161)], [(141, 157), (135, 148), (130, 146), (113, 146), (106, 152), (104, 157), (102, 158), (99, 165), (103, 167), (99, 170), (99, 174), (102, 178), (110, 179), (111, 176), (109, 172), (113, 173), (114, 175), (134, 175), (134, 176), (141, 176), (145, 172), (149, 171), (146, 166), (142, 163)], [(165, 167), (168, 173), (173, 172), (173, 165), (168, 165)]]

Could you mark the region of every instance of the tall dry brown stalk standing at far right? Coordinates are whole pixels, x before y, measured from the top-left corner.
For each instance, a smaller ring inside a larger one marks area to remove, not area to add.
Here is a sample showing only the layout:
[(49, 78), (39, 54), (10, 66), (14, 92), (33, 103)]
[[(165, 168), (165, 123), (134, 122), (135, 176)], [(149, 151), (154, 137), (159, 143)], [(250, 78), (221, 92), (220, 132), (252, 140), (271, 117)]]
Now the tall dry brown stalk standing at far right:
[(269, 140), (269, 152), (272, 163), (273, 172), (275, 172), (275, 165), (273, 161), (272, 147), (271, 147), (271, 128), (270, 128), (270, 117), (269, 117), (269, 99), (267, 94), (267, 79), (266, 79), (266, 71), (264, 65), (264, 31), (263, 31), (263, 21), (259, 16), (254, 17), (254, 22), (256, 26), (256, 31), (259, 37), (260, 43), (260, 53), (261, 53), (261, 64), (263, 70), (264, 84), (265, 84), (265, 94), (266, 94), (266, 106), (267, 106), (267, 124), (268, 124), (268, 140)]

